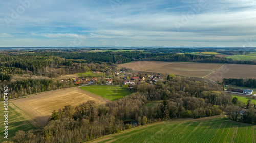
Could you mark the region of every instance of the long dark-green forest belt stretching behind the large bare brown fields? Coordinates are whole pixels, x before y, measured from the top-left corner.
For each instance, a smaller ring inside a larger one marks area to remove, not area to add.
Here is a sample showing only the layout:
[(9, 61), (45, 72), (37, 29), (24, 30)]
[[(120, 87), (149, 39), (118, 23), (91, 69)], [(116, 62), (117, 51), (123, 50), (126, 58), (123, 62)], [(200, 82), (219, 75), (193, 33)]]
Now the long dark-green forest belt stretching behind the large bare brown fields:
[(80, 59), (93, 62), (106, 62), (123, 64), (131, 61), (180, 61), (180, 62), (202, 62), (202, 63), (229, 63), (229, 64), (256, 64), (256, 61), (232, 60), (217, 56), (203, 56), (194, 54), (173, 54), (173, 53), (145, 53), (141, 51), (133, 52), (92, 52), (92, 53), (71, 53), (71, 52), (38, 52), (27, 53), (30, 56), (58, 56), (65, 59)]

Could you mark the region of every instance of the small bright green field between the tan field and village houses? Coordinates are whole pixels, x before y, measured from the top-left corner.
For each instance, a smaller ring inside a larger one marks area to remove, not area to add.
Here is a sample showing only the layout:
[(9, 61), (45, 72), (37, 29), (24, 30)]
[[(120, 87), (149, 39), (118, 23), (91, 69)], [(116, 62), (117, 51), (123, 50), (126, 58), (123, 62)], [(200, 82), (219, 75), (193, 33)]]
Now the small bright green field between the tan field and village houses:
[(109, 99), (111, 101), (122, 98), (132, 93), (131, 91), (124, 89), (121, 86), (85, 86), (80, 88), (104, 97), (106, 99)]

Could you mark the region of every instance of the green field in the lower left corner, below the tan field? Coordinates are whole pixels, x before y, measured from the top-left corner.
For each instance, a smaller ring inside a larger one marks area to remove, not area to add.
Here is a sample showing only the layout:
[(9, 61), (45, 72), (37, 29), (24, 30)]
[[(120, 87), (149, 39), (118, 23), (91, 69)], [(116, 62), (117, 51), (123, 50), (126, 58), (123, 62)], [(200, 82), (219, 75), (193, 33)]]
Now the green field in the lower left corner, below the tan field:
[(1, 138), (0, 138), (0, 142), (4, 141), (4, 127), (8, 126), (8, 139), (13, 139), (13, 137), (15, 136), (15, 132), (18, 130), (23, 130), (23, 131), (29, 131), (29, 130), (33, 130), (33, 131), (38, 131), (38, 126), (35, 126), (35, 124), (33, 124), (31, 122), (31, 119), (28, 119), (26, 116), (24, 116), (24, 112), (18, 108), (16, 105), (14, 105), (13, 103), (9, 103), (8, 105), (8, 125), (4, 125), (4, 121), (5, 121), (5, 117), (4, 115), (4, 103), (0, 103), (0, 112), (1, 112), (1, 116), (0, 116), (0, 127), (1, 127)]

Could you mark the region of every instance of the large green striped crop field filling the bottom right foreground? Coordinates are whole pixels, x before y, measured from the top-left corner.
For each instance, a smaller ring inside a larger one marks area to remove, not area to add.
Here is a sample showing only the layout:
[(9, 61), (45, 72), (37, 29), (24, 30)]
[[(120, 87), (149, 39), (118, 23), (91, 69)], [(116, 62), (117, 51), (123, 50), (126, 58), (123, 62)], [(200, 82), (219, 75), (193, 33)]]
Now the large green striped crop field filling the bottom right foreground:
[(99, 138), (95, 142), (255, 142), (256, 126), (224, 116), (160, 122)]

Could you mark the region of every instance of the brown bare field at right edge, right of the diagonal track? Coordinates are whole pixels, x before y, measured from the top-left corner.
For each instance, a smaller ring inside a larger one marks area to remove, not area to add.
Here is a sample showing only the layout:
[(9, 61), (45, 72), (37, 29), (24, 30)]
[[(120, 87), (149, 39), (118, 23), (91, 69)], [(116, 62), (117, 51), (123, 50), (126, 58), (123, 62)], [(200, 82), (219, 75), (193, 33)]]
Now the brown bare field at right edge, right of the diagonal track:
[(223, 78), (256, 79), (256, 65), (225, 64), (223, 67), (204, 78), (220, 82)]

